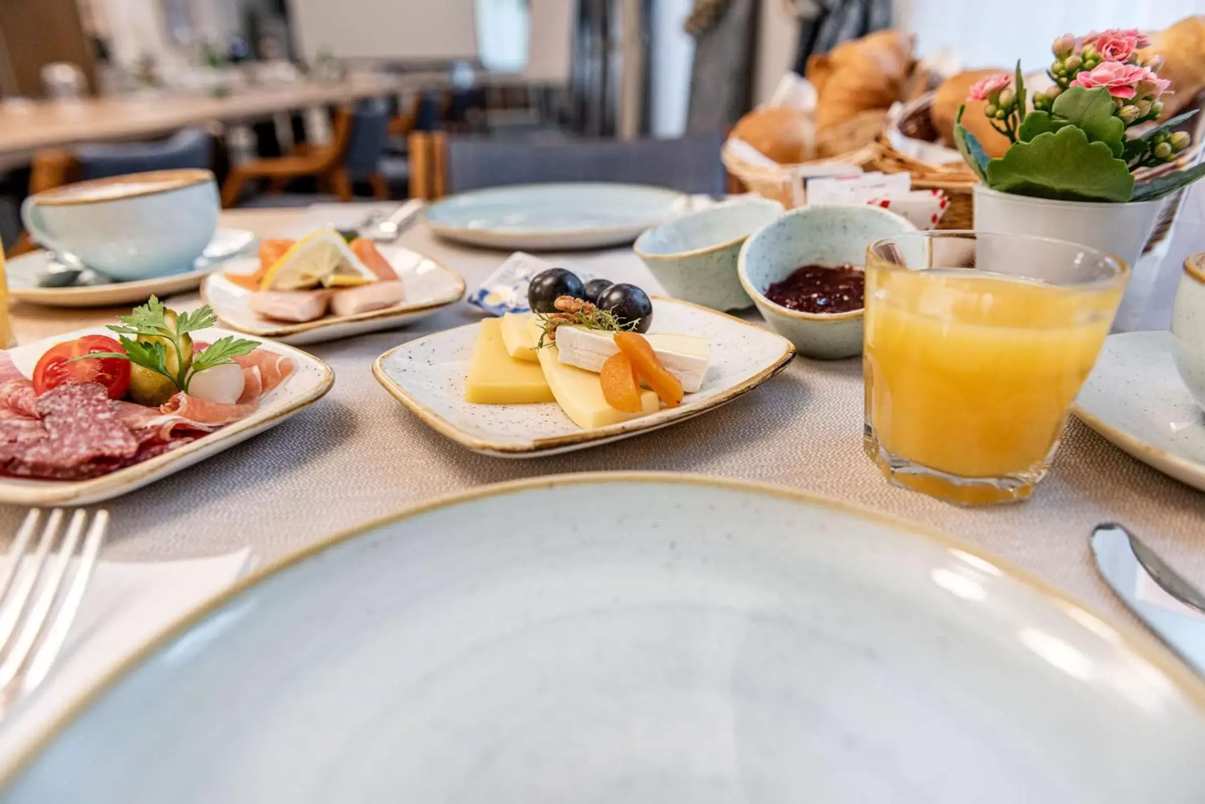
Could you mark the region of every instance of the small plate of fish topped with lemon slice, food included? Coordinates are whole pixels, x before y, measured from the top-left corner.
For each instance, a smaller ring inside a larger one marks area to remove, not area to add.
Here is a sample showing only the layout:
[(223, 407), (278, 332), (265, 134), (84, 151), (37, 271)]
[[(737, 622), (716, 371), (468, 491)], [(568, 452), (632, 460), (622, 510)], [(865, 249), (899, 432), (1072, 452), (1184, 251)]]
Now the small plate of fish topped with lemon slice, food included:
[(464, 280), (439, 262), (334, 230), (265, 240), (201, 288), (223, 326), (286, 343), (404, 326), (463, 295)]

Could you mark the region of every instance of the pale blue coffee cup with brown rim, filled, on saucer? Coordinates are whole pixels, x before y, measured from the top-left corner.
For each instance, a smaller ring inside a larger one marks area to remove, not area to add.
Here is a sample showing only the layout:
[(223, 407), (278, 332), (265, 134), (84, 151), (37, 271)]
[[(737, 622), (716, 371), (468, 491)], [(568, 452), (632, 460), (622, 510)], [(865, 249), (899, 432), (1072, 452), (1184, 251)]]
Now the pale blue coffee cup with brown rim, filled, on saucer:
[(218, 226), (207, 170), (167, 170), (78, 182), (25, 199), (30, 237), (114, 279), (193, 270)]

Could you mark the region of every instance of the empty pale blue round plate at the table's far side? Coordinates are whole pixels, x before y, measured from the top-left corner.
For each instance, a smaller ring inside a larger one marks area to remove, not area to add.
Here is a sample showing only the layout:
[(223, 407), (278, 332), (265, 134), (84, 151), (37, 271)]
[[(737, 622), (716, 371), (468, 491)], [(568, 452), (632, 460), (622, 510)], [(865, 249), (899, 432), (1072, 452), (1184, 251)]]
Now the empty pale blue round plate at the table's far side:
[(449, 240), (501, 249), (621, 246), (672, 217), (686, 196), (640, 184), (565, 182), (463, 193), (427, 207)]

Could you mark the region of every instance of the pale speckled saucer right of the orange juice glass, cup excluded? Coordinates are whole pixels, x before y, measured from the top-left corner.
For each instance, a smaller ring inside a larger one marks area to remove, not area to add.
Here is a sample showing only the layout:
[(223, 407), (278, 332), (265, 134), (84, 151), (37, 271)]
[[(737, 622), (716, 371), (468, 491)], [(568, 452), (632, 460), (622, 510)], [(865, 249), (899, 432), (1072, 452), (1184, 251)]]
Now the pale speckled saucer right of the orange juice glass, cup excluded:
[(1072, 410), (1138, 460), (1205, 491), (1205, 416), (1176, 372), (1170, 332), (1105, 338)]

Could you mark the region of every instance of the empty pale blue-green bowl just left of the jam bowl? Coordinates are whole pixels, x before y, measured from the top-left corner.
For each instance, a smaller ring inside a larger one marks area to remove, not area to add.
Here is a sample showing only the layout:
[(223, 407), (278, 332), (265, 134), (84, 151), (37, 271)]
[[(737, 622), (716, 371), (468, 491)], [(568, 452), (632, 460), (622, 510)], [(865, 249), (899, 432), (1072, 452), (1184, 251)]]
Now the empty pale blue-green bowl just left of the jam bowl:
[(645, 231), (634, 250), (676, 298), (712, 309), (752, 305), (736, 278), (736, 255), (750, 235), (782, 214), (765, 199), (723, 203)]

